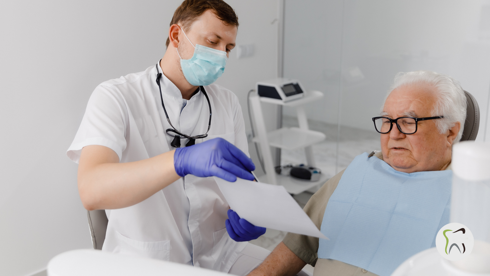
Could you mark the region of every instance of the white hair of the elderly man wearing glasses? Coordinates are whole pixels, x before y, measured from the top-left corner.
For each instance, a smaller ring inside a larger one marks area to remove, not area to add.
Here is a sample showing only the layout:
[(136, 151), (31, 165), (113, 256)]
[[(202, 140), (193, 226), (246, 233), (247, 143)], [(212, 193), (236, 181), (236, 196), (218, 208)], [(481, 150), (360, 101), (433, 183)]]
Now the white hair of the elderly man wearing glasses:
[(444, 116), (436, 120), (436, 126), (440, 134), (454, 127), (456, 122), (461, 123), (458, 136), (453, 142), (457, 143), (463, 135), (466, 120), (466, 95), (460, 83), (448, 75), (432, 71), (400, 72), (396, 74), (386, 98), (395, 88), (413, 84), (425, 84), (436, 88), (437, 101), (431, 116)]

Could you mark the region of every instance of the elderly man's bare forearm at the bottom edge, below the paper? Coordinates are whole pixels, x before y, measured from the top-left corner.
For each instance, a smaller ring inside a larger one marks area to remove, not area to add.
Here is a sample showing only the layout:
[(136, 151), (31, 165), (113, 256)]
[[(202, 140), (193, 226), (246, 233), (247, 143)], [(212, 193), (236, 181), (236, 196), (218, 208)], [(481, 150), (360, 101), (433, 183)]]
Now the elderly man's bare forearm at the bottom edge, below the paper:
[(282, 242), (248, 276), (294, 276), (306, 265)]

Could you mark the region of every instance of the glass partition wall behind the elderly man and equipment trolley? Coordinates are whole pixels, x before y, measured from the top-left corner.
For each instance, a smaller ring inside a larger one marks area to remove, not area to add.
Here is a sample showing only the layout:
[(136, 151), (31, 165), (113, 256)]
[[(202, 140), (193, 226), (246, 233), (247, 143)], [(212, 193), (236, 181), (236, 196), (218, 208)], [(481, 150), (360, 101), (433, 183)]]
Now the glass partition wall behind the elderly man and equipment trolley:
[[(448, 74), (478, 101), (477, 140), (488, 139), (490, 1), (284, 0), (284, 77), (324, 98), (308, 107), (313, 146), (330, 177), (363, 152), (380, 150), (377, 116), (398, 72)], [(283, 125), (295, 126), (294, 110)], [(283, 150), (281, 164), (305, 163)]]

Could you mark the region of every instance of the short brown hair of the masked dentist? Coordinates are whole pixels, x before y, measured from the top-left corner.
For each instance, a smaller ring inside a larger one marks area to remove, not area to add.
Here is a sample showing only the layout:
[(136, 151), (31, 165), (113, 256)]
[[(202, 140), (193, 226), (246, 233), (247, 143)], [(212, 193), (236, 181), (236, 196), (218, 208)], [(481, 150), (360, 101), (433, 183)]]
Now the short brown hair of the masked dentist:
[[(213, 11), (223, 23), (238, 27), (235, 10), (223, 0), (185, 0), (173, 13), (170, 26), (181, 23), (184, 30), (187, 31), (192, 23), (207, 10)], [(170, 39), (167, 38), (167, 47), (169, 44)]]

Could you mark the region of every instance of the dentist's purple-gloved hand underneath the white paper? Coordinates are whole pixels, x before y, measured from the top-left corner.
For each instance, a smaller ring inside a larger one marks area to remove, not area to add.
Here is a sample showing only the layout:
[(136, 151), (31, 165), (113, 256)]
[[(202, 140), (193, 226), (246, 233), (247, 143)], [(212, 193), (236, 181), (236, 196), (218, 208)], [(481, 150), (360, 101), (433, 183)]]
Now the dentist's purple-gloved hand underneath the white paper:
[(265, 227), (255, 226), (252, 223), (241, 219), (237, 212), (228, 210), (228, 219), (225, 221), (226, 231), (234, 241), (248, 242), (264, 235)]

